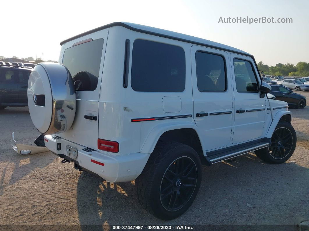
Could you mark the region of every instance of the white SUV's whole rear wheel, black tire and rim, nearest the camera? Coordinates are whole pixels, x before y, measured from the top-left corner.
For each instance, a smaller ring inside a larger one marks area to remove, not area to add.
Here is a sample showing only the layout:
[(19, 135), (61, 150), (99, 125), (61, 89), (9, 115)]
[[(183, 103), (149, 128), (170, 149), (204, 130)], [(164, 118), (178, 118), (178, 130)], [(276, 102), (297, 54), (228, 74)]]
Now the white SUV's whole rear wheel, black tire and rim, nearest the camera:
[(171, 220), (190, 207), (200, 184), (197, 152), (182, 143), (162, 142), (135, 180), (135, 189), (144, 209), (159, 219)]

